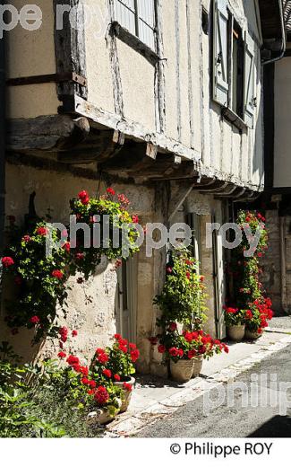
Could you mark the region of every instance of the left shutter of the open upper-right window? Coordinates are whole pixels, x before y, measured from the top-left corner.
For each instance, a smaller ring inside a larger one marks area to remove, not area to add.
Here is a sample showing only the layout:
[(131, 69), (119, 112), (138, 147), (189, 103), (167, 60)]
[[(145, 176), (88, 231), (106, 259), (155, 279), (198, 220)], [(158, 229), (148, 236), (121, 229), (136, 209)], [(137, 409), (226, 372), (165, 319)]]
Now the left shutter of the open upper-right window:
[(213, 99), (228, 104), (227, 0), (215, 0), (213, 9)]

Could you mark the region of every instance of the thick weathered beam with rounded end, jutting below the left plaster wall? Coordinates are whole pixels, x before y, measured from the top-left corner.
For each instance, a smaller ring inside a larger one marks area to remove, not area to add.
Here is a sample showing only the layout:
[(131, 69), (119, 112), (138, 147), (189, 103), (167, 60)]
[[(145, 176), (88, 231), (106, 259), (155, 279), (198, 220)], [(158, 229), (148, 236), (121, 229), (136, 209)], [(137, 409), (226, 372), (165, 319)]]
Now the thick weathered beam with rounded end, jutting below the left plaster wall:
[(19, 152), (69, 149), (84, 141), (89, 133), (89, 121), (83, 117), (50, 115), (10, 119), (7, 121), (7, 149)]

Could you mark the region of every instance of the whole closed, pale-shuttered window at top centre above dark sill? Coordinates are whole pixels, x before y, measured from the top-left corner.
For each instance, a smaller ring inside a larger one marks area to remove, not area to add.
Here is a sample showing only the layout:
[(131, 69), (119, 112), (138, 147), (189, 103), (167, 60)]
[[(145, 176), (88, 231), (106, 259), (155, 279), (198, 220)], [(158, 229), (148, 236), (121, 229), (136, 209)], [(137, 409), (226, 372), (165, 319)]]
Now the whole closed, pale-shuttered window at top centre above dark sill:
[(148, 47), (156, 49), (155, 0), (115, 0), (115, 19)]

